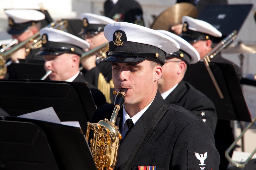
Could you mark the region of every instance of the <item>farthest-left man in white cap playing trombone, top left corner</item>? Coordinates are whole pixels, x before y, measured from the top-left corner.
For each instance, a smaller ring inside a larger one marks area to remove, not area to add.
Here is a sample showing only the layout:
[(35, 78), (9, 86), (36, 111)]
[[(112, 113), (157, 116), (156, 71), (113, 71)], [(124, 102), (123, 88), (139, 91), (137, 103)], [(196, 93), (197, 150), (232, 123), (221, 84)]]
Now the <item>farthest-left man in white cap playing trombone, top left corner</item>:
[[(41, 21), (45, 19), (45, 15), (42, 12), (34, 9), (6, 9), (5, 14), (9, 22), (7, 32), (18, 43), (36, 34), (41, 29)], [(25, 47), (23, 47), (11, 56), (11, 60), (16, 62), (18, 59), (25, 58), (39, 59), (34, 57), (37, 52), (38, 50), (31, 50), (27, 53)]]

